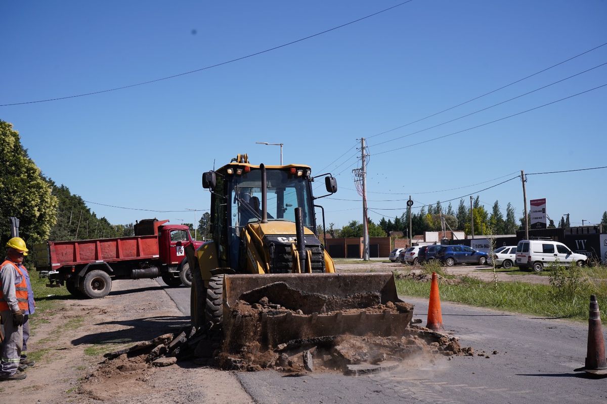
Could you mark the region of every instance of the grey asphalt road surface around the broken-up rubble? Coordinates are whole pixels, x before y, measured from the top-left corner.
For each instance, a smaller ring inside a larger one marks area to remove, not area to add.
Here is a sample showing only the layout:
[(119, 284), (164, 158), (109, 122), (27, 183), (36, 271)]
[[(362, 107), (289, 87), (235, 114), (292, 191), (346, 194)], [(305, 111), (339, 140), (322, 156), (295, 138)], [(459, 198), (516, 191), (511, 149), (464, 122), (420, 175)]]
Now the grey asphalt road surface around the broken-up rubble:
[[(165, 291), (189, 314), (188, 288)], [(401, 299), (415, 304), (415, 317), (425, 324), (426, 300)], [(607, 379), (573, 371), (584, 363), (587, 325), (446, 302), (441, 306), (447, 331), (461, 346), (484, 351), (489, 358), (439, 357), (415, 368), (358, 377), (287, 377), (275, 371), (236, 375), (256, 402), (268, 404), (607, 402)]]

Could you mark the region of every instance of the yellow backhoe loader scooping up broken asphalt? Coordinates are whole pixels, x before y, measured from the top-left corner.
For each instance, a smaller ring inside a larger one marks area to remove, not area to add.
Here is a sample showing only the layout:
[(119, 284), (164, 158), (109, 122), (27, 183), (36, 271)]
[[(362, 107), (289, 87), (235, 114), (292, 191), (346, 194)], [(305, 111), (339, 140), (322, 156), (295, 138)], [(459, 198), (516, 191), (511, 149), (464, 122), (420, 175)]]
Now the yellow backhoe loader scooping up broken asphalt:
[[(335, 273), (316, 234), (319, 178), (327, 190), (319, 197), (337, 191), (330, 173), (311, 176), (302, 164), (253, 165), (246, 154), (203, 174), (203, 187), (211, 191), (212, 240), (186, 248), (194, 326), (211, 324), (225, 340), (242, 346), (243, 339), (259, 339), (269, 348), (298, 338), (404, 333), (412, 310), (364, 311), (404, 305), (392, 274)], [(324, 210), (322, 219), (324, 228)], [(266, 310), (255, 318), (234, 310), (264, 301), (291, 311)]]

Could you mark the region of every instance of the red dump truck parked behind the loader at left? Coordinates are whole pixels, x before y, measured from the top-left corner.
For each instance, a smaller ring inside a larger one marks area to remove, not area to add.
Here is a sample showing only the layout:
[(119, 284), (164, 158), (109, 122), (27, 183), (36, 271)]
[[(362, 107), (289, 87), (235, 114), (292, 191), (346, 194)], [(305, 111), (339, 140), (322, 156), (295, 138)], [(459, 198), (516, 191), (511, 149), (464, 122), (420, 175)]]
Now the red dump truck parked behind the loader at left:
[(66, 285), (74, 296), (104, 297), (112, 279), (162, 277), (169, 286), (191, 286), (184, 248), (192, 240), (185, 225), (169, 220), (144, 219), (135, 224), (135, 236), (112, 239), (47, 241), (32, 248), (36, 270), (48, 276), (47, 286)]

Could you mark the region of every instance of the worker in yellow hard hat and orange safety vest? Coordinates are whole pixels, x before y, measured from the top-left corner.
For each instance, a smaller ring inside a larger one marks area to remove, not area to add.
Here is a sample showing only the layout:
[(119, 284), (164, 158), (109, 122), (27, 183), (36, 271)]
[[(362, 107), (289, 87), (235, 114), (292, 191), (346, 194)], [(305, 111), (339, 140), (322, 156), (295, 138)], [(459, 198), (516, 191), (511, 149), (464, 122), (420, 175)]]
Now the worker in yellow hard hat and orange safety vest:
[[(33, 294), (28, 282), (23, 258), (27, 247), (21, 237), (6, 243), (7, 257), (0, 265), (0, 316), (4, 323), (4, 346), (0, 360), (0, 381), (25, 379), (19, 370), (23, 348), (23, 323), (26, 313), (33, 313)], [(31, 305), (31, 310), (30, 310)]]

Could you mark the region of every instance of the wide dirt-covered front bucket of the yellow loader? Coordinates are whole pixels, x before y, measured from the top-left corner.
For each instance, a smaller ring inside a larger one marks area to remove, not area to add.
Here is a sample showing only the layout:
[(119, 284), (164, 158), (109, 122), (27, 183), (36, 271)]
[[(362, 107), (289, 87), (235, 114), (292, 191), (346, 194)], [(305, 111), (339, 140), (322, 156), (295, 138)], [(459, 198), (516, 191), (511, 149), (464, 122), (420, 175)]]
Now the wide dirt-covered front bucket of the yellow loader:
[(276, 348), (335, 336), (402, 336), (413, 306), (398, 299), (392, 274), (226, 275), (225, 347)]

